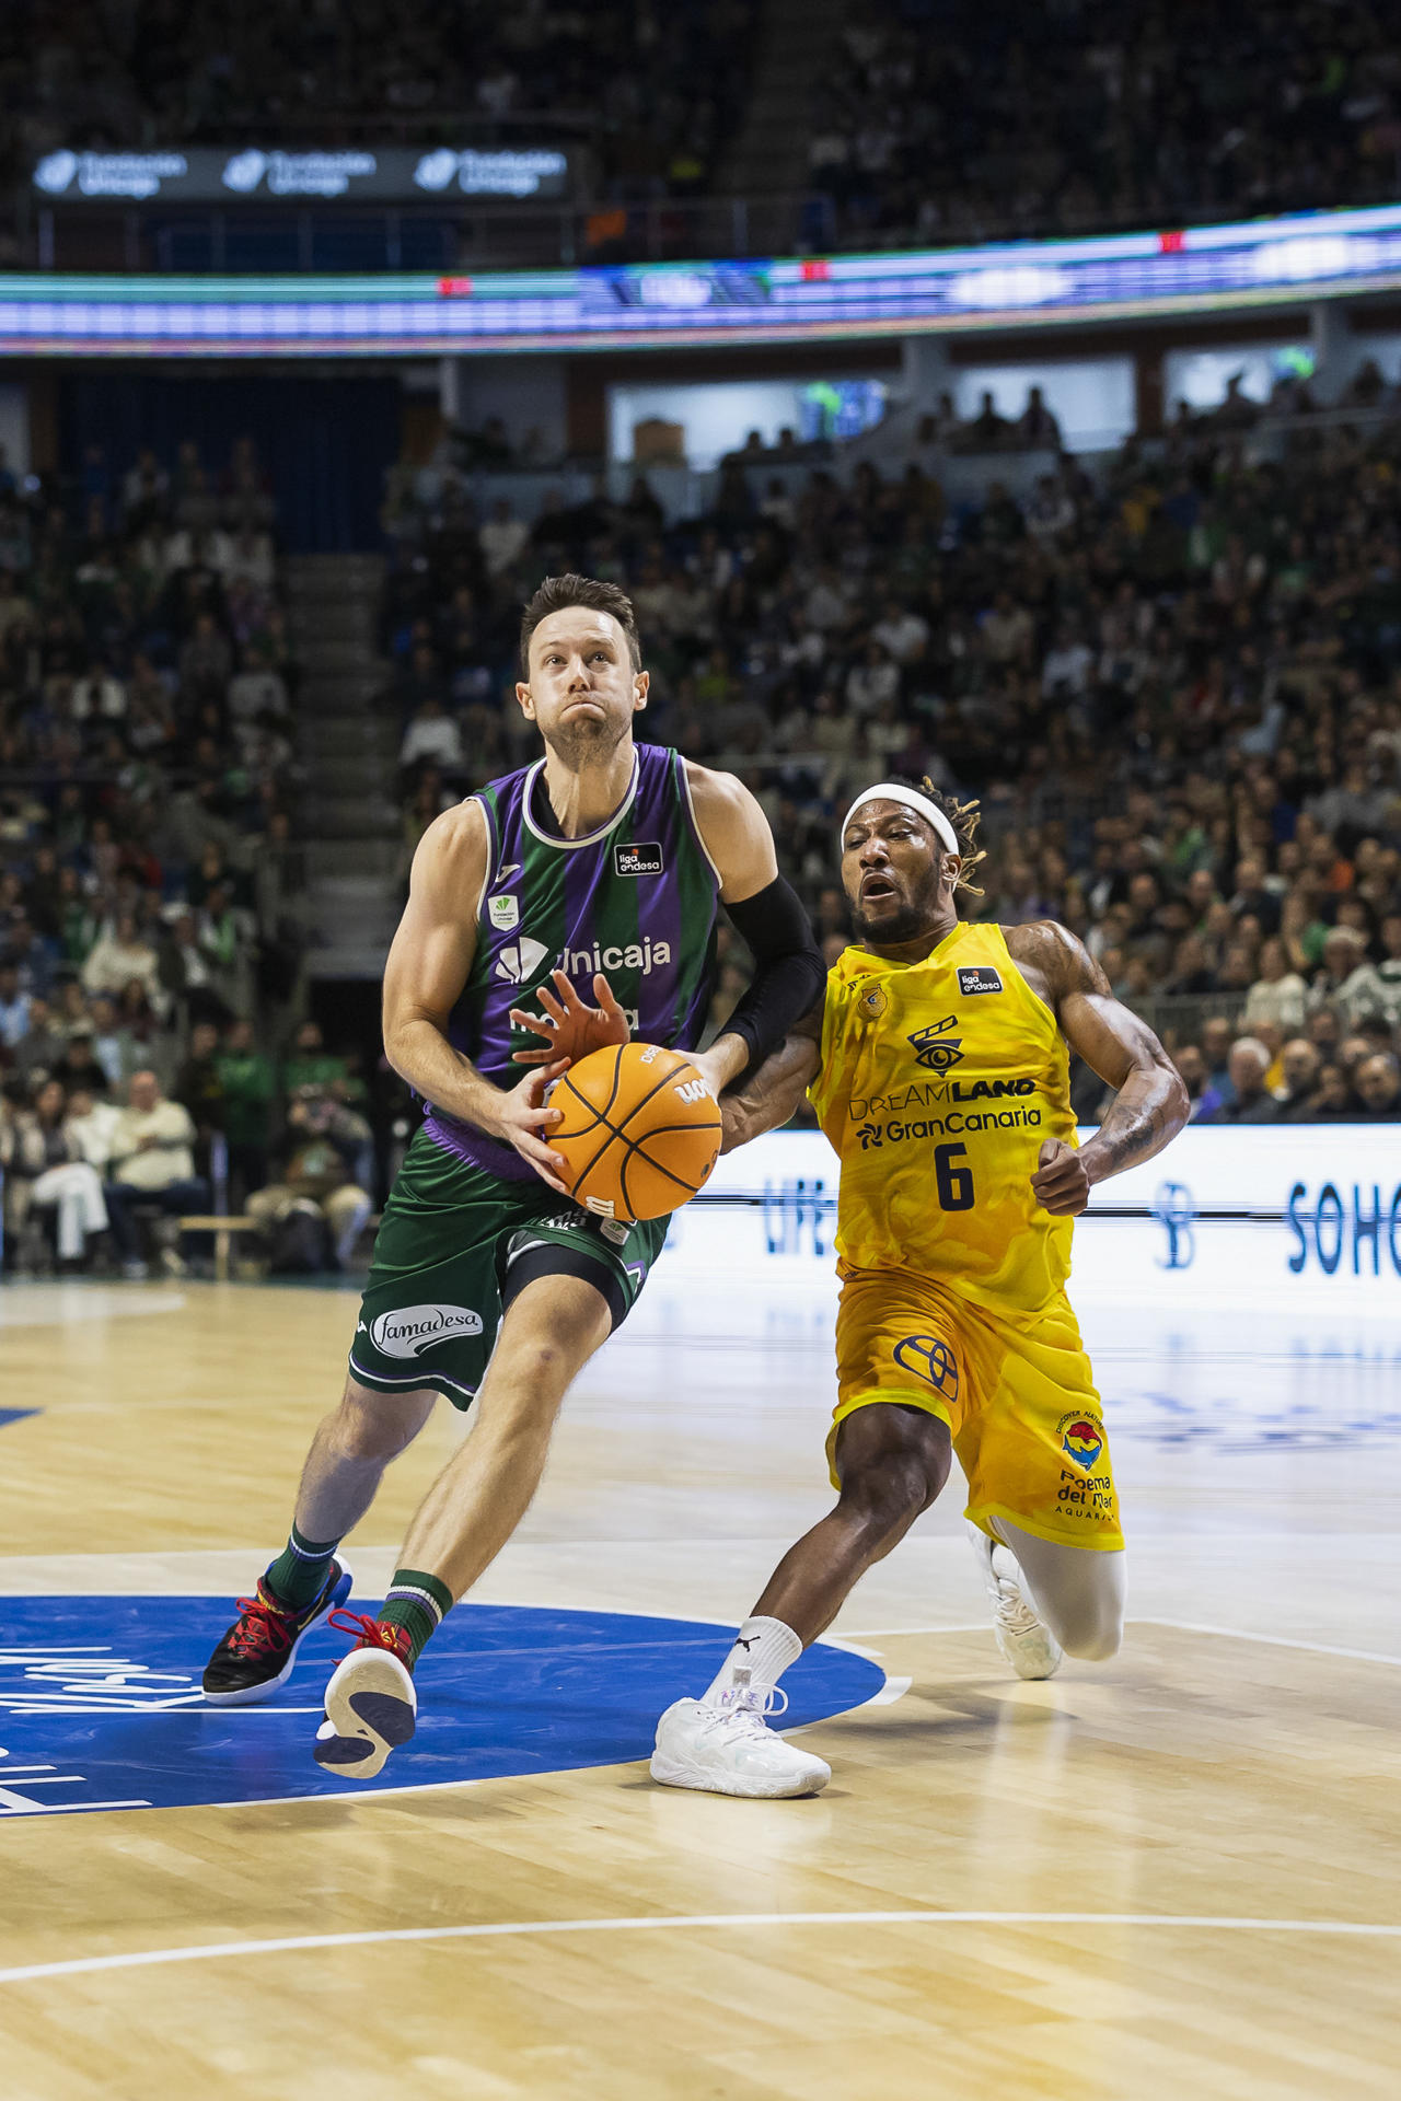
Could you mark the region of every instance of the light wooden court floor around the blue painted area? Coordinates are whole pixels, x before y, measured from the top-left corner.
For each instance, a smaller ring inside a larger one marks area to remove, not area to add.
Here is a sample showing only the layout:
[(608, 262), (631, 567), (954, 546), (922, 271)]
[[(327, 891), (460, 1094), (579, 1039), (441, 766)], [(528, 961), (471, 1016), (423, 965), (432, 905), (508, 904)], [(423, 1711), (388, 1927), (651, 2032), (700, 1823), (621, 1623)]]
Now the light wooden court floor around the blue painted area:
[[(248, 1588), (353, 1305), (6, 1288), (0, 1649), (36, 1599)], [(582, 1380), (483, 1599), (733, 1624), (823, 1506), (815, 1330), (685, 1319)], [(365, 1593), (460, 1429), (391, 1473)], [(949, 1502), (838, 1622), (886, 1683), (811, 1727), (815, 1801), (624, 1763), (29, 1813), (0, 1761), (0, 2101), (1401, 2093), (1397, 1454), (1115, 1462), (1122, 1656), (1010, 1679)]]

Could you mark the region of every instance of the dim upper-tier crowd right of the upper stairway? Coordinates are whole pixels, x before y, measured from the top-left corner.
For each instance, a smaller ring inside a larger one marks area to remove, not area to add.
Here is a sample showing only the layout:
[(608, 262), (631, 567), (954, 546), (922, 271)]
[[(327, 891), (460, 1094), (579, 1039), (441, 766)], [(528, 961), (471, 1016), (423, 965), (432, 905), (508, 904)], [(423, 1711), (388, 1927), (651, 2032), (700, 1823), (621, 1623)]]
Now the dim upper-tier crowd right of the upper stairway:
[(876, 0), (809, 162), (849, 248), (1390, 204), (1401, 55), (1367, 0)]

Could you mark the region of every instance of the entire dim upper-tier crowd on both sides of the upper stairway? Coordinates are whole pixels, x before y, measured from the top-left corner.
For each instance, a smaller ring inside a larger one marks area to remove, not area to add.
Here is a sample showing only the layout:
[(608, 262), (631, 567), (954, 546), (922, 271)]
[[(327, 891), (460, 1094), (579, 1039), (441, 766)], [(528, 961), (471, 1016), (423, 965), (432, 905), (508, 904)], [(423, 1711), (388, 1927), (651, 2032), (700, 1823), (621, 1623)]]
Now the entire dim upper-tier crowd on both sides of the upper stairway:
[[(42, 153), (71, 147), (563, 143), (597, 214), (588, 240), (611, 254), (628, 204), (720, 187), (765, 15), (11, 0), (0, 183), (21, 191)], [(1393, 202), (1401, 57), (1369, 0), (874, 0), (844, 13), (788, 122), (828, 200), (823, 246), (1178, 227)], [(794, 240), (813, 229), (809, 206)]]

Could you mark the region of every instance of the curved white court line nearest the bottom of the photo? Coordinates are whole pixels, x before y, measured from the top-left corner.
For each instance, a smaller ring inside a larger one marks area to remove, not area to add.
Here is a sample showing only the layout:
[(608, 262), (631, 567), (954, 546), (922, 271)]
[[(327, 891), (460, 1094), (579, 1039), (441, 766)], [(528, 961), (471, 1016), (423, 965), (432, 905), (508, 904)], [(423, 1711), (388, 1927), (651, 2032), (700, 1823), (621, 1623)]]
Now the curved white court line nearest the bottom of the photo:
[(313, 1948), (389, 1948), (395, 1941), (477, 1941), (529, 1933), (668, 1933), (737, 1927), (1166, 1927), (1178, 1933), (1327, 1933), (1353, 1939), (1401, 1939), (1401, 1925), (1353, 1918), (1206, 1918), (1166, 1912), (702, 1912), (691, 1918), (519, 1918), (473, 1927), (386, 1927), (376, 1933), (298, 1933), (277, 1941), (212, 1941), (202, 1948), (141, 1948), (126, 1956), (74, 1956), (0, 1969), (0, 1983), (40, 1977), (92, 1977), (99, 1971), (158, 1969), (166, 1962), (221, 1962), (284, 1956)]

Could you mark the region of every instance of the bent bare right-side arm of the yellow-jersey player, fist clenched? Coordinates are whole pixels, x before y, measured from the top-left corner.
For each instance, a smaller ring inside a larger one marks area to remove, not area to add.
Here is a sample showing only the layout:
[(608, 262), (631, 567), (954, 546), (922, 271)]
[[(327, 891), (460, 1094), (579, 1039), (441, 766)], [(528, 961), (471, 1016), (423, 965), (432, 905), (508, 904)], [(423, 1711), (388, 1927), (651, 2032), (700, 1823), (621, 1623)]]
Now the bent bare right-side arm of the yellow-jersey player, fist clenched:
[(1040, 920), (1010, 927), (1006, 945), (1027, 983), (1052, 1008), (1071, 1050), (1117, 1088), (1099, 1132), (1078, 1153), (1054, 1141), (1042, 1147), (1031, 1187), (1046, 1210), (1075, 1214), (1094, 1183), (1159, 1153), (1187, 1122), (1191, 1103), (1153, 1029), (1115, 1000), (1109, 979), (1073, 933)]

